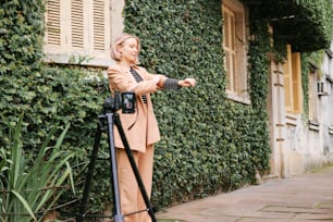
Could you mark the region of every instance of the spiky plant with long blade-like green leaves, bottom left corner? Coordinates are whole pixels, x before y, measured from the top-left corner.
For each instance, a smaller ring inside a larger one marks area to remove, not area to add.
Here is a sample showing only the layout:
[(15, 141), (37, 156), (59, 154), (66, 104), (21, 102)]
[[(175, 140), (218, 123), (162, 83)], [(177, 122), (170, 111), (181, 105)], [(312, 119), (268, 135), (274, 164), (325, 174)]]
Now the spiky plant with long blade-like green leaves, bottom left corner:
[(71, 180), (74, 190), (72, 169), (69, 160), (73, 153), (60, 150), (69, 130), (65, 127), (54, 145), (50, 145), (57, 127), (47, 135), (35, 157), (23, 147), (22, 123), (12, 125), (2, 116), (10, 128), (10, 145), (0, 148), (0, 215), (3, 222), (41, 221), (55, 207), (61, 194), (66, 190), (66, 180)]

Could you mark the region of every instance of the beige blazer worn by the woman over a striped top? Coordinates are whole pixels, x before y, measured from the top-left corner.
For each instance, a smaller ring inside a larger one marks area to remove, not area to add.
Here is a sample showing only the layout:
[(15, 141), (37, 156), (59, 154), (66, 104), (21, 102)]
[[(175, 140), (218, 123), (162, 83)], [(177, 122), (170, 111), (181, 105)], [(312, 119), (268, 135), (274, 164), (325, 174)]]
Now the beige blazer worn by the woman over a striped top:
[[(152, 74), (149, 74), (144, 67), (133, 67), (144, 79), (137, 83), (130, 71), (124, 72), (121, 66), (114, 64), (108, 69), (109, 86), (112, 95), (114, 91), (133, 91), (136, 95), (135, 113), (122, 113), (120, 120), (132, 150), (146, 151), (146, 147), (160, 140), (160, 132), (153, 113), (150, 92), (158, 89), (156, 83), (150, 82)], [(141, 96), (146, 95), (147, 103), (144, 103)], [(114, 127), (114, 146), (124, 148)]]

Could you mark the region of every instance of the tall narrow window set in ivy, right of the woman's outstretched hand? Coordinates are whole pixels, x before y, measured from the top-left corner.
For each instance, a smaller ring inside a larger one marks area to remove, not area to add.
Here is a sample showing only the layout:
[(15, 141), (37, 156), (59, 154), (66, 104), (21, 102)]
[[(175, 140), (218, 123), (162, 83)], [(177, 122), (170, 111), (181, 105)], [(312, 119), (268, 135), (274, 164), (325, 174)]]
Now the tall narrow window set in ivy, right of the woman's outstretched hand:
[(248, 99), (245, 9), (238, 1), (224, 0), (222, 13), (226, 92), (230, 98), (244, 101)]

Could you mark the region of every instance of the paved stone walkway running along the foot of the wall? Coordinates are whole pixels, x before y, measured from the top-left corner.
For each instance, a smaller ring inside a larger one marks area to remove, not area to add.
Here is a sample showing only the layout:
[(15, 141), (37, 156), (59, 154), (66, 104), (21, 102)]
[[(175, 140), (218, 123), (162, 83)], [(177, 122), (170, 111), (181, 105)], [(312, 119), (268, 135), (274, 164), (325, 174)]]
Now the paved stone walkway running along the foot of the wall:
[(156, 217), (174, 222), (333, 222), (333, 166), (178, 205)]

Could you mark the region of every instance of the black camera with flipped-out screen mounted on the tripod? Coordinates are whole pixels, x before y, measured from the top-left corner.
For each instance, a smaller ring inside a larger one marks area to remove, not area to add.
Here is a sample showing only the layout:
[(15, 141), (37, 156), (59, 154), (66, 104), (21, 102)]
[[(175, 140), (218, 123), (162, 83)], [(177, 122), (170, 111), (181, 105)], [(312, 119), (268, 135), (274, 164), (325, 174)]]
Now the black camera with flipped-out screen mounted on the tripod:
[(115, 112), (122, 109), (122, 113), (135, 113), (135, 94), (132, 91), (116, 91), (114, 97), (104, 100), (104, 112)]

